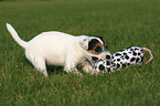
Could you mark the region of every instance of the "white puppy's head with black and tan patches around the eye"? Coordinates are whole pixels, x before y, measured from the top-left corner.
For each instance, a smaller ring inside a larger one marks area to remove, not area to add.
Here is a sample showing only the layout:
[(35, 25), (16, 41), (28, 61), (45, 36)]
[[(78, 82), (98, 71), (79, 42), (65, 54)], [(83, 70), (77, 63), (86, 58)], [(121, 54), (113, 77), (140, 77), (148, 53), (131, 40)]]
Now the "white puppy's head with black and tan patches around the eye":
[(86, 54), (92, 57), (90, 61), (98, 61), (98, 59), (106, 60), (107, 45), (102, 36), (85, 38), (81, 42), (81, 46), (86, 51)]

